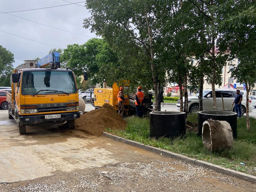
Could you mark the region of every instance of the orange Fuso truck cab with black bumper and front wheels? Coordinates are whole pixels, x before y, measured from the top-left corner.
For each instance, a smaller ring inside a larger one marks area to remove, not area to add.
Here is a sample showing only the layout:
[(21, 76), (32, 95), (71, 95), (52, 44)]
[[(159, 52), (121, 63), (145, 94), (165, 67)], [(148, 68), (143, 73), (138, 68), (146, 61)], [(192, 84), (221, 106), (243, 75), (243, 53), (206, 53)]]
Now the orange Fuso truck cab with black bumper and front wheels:
[[(87, 80), (87, 76), (84, 79)], [(11, 80), (12, 94), (6, 95), (8, 118), (15, 119), (20, 134), (26, 133), (26, 125), (67, 121), (67, 127), (74, 128), (80, 112), (76, 78), (71, 70), (51, 67), (15, 69)]]

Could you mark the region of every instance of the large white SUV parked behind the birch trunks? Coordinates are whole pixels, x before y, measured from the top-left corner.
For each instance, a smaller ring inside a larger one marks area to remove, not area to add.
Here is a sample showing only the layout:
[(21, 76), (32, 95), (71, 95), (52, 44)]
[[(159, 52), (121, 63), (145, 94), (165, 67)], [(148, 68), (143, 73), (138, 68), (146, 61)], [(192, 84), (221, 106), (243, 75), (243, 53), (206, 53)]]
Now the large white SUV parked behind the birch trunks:
[[(225, 111), (235, 111), (235, 105), (232, 106), (234, 97), (236, 96), (237, 89), (215, 89), (216, 92), (216, 102), (217, 110), (223, 110), (221, 94), (223, 95), (223, 103)], [(241, 113), (242, 115), (246, 109), (246, 91), (240, 90), (241, 95), (243, 95), (243, 100), (241, 102)], [(197, 112), (199, 111), (199, 99), (198, 94), (196, 96), (188, 97), (188, 112)], [(183, 103), (184, 103), (183, 97)], [(180, 109), (180, 100), (178, 99), (176, 104), (176, 109)], [(203, 91), (203, 110), (213, 110), (213, 101), (212, 101), (212, 91), (211, 89), (206, 89)], [(252, 105), (249, 103), (249, 112), (252, 112)]]

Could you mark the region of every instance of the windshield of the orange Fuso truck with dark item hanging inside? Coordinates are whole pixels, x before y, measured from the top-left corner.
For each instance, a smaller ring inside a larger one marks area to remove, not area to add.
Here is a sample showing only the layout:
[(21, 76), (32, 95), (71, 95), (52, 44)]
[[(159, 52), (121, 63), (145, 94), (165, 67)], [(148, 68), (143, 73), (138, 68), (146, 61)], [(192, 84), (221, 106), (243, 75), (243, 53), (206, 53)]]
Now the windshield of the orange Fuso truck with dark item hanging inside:
[[(22, 94), (76, 93), (77, 87), (72, 72), (64, 71), (24, 71), (22, 74)], [(45, 91), (44, 91), (45, 90)], [(54, 90), (54, 92), (49, 92)], [(60, 92), (56, 92), (56, 90)]]

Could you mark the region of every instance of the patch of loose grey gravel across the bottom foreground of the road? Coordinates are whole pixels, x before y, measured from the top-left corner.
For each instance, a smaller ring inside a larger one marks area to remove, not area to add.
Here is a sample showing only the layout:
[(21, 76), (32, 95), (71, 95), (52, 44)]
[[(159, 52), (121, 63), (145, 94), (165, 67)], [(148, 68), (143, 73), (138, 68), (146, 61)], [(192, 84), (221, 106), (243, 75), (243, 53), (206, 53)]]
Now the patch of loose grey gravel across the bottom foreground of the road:
[(82, 170), (59, 178), (3, 183), (0, 191), (243, 191), (240, 187), (233, 177), (200, 166), (156, 160)]

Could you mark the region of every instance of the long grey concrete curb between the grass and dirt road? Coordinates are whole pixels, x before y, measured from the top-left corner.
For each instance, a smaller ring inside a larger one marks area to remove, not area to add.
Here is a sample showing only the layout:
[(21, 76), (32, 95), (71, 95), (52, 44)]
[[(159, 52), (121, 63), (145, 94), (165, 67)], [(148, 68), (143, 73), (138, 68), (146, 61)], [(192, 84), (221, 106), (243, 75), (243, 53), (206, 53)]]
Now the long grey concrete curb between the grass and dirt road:
[(178, 154), (178, 153), (173, 153), (173, 152), (170, 152), (170, 151), (167, 151), (167, 150), (159, 149), (157, 147), (144, 145), (143, 143), (128, 140), (128, 139), (125, 139), (125, 138), (122, 138), (122, 137), (119, 137), (119, 136), (116, 136), (116, 135), (113, 135), (113, 134), (110, 134), (110, 133), (107, 133), (107, 132), (103, 132), (103, 135), (106, 136), (106, 137), (112, 138), (116, 141), (120, 141), (120, 142), (129, 144), (129, 145), (133, 145), (135, 147), (142, 148), (144, 150), (148, 150), (148, 151), (151, 151), (151, 152), (154, 152), (154, 153), (162, 154), (162, 155), (165, 155), (167, 157), (172, 157), (172, 158), (178, 159), (180, 161), (184, 161), (184, 162), (187, 162), (187, 163), (190, 163), (190, 164), (195, 164), (195, 165), (198, 165), (198, 166), (202, 166), (202, 167), (214, 170), (214, 171), (219, 172), (219, 173), (224, 173), (224, 174), (227, 174), (227, 175), (238, 177), (238, 178), (246, 180), (246, 181), (256, 183), (256, 177), (253, 176), (253, 175), (249, 175), (249, 174), (242, 173), (242, 172), (239, 172), (239, 171), (235, 171), (235, 170), (232, 170), (232, 169), (229, 169), (229, 168), (221, 167), (219, 165), (215, 165), (215, 164), (208, 163), (208, 162), (205, 162), (205, 161), (197, 160), (197, 159), (187, 157), (185, 155), (181, 155), (181, 154)]

